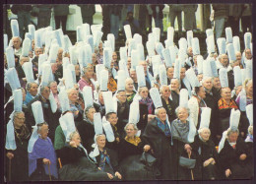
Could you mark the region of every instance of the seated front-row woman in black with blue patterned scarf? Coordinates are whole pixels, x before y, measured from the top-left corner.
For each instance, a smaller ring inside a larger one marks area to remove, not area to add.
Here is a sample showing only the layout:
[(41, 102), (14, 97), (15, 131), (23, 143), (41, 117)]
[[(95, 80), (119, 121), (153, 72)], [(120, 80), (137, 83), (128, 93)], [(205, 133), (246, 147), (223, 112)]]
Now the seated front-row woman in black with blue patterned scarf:
[(105, 135), (96, 135), (96, 147), (99, 153), (94, 159), (96, 160), (98, 169), (107, 172), (111, 179), (122, 179), (121, 174), (117, 171), (117, 154), (105, 148)]

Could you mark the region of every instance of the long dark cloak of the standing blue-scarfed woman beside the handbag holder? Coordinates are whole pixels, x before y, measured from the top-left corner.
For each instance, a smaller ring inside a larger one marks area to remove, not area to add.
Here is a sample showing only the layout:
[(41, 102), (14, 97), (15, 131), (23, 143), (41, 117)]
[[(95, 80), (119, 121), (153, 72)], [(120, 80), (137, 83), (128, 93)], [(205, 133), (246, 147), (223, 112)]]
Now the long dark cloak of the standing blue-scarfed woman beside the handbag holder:
[(174, 167), (171, 166), (173, 164), (170, 140), (160, 130), (157, 119), (147, 124), (142, 139), (147, 145), (151, 146), (154, 151), (154, 156), (157, 158), (156, 166), (160, 170), (159, 179), (172, 179)]

